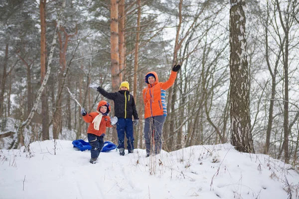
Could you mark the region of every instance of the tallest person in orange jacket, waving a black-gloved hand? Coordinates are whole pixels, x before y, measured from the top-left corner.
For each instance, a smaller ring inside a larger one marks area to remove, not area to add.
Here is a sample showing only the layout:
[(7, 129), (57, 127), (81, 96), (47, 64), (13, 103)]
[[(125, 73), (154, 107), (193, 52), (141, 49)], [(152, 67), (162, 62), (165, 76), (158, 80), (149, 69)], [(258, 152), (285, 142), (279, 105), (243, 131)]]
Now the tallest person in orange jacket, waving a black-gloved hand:
[(173, 85), (179, 69), (180, 65), (174, 65), (166, 82), (159, 82), (155, 72), (149, 72), (145, 77), (145, 82), (148, 84), (148, 87), (143, 90), (147, 157), (149, 157), (150, 152), (155, 154), (161, 152), (162, 128), (167, 115), (165, 90)]

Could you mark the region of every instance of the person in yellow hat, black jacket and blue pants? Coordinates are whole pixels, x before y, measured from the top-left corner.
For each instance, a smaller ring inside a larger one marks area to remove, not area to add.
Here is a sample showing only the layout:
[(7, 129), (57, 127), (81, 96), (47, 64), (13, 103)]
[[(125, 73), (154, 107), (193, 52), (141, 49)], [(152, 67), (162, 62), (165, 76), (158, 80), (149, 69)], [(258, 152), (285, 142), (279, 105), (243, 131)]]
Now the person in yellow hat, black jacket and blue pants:
[[(122, 82), (120, 90), (115, 93), (108, 93), (102, 87), (95, 84), (89, 85), (90, 88), (97, 88), (105, 98), (114, 101), (114, 114), (118, 118), (117, 122), (117, 136), (118, 136), (118, 149), (120, 155), (125, 155), (125, 134), (128, 139), (128, 152), (134, 151), (134, 136), (133, 124), (136, 126), (139, 121), (136, 104), (133, 96), (130, 94), (130, 85), (128, 82)], [(134, 121), (132, 120), (134, 116)]]

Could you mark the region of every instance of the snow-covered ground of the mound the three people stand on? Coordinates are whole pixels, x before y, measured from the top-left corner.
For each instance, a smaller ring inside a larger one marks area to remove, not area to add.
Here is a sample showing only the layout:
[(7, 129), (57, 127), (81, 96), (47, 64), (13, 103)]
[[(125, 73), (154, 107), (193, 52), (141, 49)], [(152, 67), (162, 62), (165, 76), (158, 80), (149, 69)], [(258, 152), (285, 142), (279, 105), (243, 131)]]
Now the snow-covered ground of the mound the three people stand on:
[[(281, 161), (230, 144), (192, 146), (145, 157), (90, 151), (71, 141), (34, 142), (30, 152), (0, 150), (0, 199), (292, 199), (299, 175)], [(56, 155), (54, 153), (56, 152)]]

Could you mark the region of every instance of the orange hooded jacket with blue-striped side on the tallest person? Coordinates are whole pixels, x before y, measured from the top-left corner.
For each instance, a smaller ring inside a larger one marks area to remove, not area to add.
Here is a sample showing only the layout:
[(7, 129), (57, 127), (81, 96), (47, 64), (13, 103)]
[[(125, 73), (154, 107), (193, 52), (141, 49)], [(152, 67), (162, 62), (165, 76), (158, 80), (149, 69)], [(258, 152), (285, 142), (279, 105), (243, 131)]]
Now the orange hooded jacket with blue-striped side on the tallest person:
[(145, 103), (145, 118), (157, 115), (167, 115), (166, 110), (166, 89), (170, 88), (176, 78), (176, 73), (171, 71), (170, 77), (166, 82), (159, 82), (156, 72), (149, 72), (147, 75), (152, 74), (155, 77), (155, 82), (149, 84), (147, 75), (145, 81), (148, 84), (143, 90), (143, 99)]

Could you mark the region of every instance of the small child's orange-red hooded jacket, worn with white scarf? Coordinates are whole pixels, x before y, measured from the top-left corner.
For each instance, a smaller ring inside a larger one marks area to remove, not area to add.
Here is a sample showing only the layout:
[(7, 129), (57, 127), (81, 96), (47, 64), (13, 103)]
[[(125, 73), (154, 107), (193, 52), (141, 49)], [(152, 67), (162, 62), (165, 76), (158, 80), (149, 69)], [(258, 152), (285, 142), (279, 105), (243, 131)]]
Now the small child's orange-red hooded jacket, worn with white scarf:
[[(99, 111), (100, 107), (103, 106), (103, 105), (107, 106), (106, 114), (108, 114), (111, 108), (110, 108), (109, 103), (105, 100), (102, 100), (102, 101), (99, 102), (97, 110)], [(96, 130), (94, 128), (94, 124), (92, 123), (92, 121), (94, 120), (94, 118), (97, 115), (99, 115), (98, 112), (91, 112), (91, 113), (86, 114), (85, 116), (83, 116), (83, 119), (84, 119), (85, 122), (89, 123), (87, 133), (91, 133), (91, 134), (95, 134), (97, 136), (101, 136), (101, 135), (106, 133), (106, 127), (113, 127), (113, 126), (110, 124), (110, 122), (111, 122), (110, 117), (108, 115), (104, 114), (103, 117), (102, 117), (102, 120), (101, 120), (100, 129)]]

